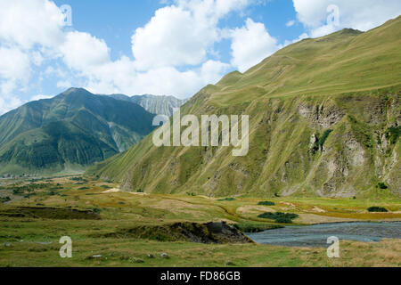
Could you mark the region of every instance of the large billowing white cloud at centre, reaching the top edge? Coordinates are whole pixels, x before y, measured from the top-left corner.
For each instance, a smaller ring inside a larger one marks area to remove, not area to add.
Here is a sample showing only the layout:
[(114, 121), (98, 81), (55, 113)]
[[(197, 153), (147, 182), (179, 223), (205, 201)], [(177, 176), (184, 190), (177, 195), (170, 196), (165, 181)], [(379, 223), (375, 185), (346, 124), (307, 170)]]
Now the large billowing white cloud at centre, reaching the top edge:
[(198, 65), (209, 47), (220, 38), (217, 23), (226, 14), (241, 10), (249, 0), (178, 0), (157, 10), (132, 37), (135, 67)]

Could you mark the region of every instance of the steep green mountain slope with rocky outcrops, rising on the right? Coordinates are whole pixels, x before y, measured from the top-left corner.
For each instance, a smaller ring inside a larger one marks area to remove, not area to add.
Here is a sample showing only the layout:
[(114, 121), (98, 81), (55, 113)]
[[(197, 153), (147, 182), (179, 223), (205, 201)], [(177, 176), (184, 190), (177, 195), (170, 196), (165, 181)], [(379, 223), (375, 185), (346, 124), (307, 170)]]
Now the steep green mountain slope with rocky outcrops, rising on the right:
[(250, 115), (245, 157), (231, 147), (157, 148), (149, 135), (88, 174), (130, 191), (401, 195), (399, 46), (401, 17), (365, 33), (305, 39), (184, 104), (182, 116)]

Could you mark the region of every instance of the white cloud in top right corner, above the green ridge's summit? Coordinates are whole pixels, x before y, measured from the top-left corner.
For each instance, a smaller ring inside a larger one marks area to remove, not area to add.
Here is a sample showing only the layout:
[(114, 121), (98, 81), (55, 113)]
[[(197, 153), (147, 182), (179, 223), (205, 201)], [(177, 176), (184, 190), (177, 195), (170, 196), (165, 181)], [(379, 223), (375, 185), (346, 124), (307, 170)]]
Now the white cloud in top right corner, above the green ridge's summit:
[[(321, 37), (341, 28), (366, 31), (401, 14), (401, 1), (386, 0), (293, 0), (298, 20), (308, 29), (311, 37)], [(339, 8), (339, 21), (329, 15), (330, 5)]]

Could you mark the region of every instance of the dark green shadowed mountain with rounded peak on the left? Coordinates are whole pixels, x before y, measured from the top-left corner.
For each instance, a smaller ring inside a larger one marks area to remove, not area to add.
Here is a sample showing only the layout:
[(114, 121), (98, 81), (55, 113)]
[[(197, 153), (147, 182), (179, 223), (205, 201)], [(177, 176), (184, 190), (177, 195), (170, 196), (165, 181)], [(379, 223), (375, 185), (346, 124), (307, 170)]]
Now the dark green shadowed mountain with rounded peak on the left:
[(153, 116), (77, 88), (29, 102), (0, 117), (0, 174), (82, 169), (139, 142)]

